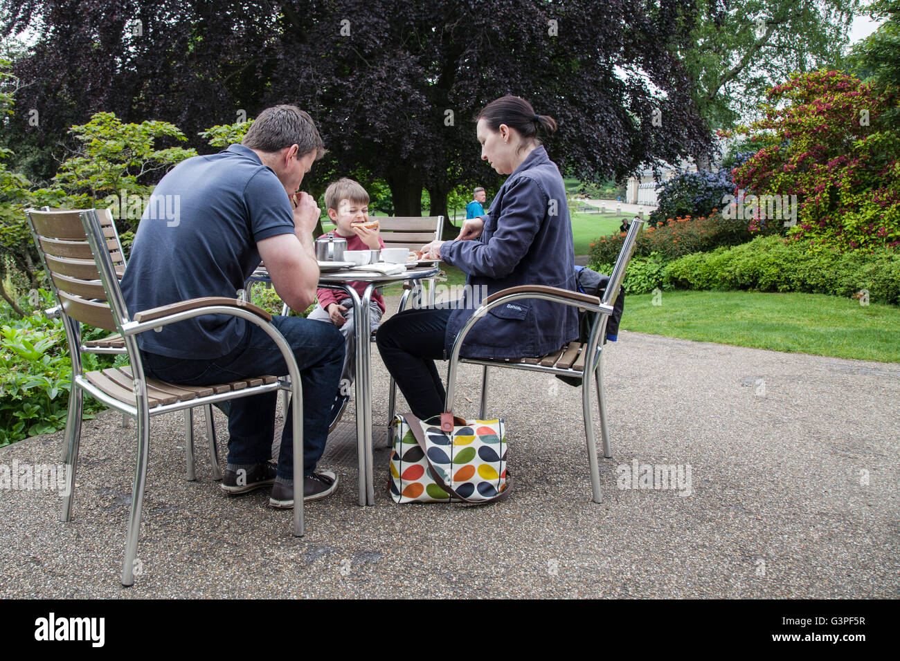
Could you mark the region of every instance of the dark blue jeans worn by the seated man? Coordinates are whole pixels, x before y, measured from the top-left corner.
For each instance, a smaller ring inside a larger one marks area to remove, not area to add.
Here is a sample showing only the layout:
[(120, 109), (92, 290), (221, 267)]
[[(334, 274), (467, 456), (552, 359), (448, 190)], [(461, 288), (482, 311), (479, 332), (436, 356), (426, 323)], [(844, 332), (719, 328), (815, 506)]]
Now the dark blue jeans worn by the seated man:
[[(303, 389), (303, 472), (309, 475), (325, 451), (331, 403), (338, 393), (344, 337), (335, 326), (302, 317), (273, 317), (272, 324), (293, 349)], [(247, 322), (238, 347), (213, 360), (185, 360), (143, 353), (147, 375), (189, 386), (211, 386), (264, 374), (284, 376), (287, 363), (266, 332)], [(228, 460), (256, 464), (272, 459), (276, 391), (230, 400)], [(284, 413), (278, 476), (293, 479), (293, 407)]]

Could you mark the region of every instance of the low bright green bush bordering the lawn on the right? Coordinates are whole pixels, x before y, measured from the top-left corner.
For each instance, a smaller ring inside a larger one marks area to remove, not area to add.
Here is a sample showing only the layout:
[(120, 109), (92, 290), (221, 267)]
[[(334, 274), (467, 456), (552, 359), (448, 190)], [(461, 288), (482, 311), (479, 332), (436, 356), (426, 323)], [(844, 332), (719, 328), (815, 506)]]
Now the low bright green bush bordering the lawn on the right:
[(900, 303), (900, 252), (810, 250), (803, 242), (757, 237), (743, 246), (686, 255), (666, 265), (663, 281), (682, 289), (806, 291)]

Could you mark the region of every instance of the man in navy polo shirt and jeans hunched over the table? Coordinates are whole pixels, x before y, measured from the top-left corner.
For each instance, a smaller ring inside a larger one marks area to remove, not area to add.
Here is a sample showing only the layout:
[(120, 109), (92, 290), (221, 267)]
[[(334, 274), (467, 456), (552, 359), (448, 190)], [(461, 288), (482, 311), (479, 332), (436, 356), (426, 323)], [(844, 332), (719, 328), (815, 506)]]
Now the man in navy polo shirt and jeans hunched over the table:
[[(279, 105), (261, 112), (241, 144), (194, 156), (163, 177), (154, 195), (172, 200), (178, 218), (145, 211), (121, 281), (131, 314), (201, 296), (234, 298), (247, 277), (266, 263), (275, 291), (304, 310), (319, 281), (312, 230), (315, 201), (297, 191), (303, 175), (325, 154), (306, 112)], [(338, 329), (302, 317), (274, 317), (293, 349), (303, 389), (305, 500), (334, 493), (337, 476), (317, 470), (325, 450), (330, 405), (344, 361)], [(287, 374), (275, 343), (238, 317), (207, 315), (139, 335), (148, 376), (188, 385), (213, 385), (261, 374)], [(231, 400), (229, 457), (221, 488), (243, 494), (272, 485), (269, 505), (293, 507), (293, 430), (285, 412), (277, 467), (270, 463), (276, 392)]]

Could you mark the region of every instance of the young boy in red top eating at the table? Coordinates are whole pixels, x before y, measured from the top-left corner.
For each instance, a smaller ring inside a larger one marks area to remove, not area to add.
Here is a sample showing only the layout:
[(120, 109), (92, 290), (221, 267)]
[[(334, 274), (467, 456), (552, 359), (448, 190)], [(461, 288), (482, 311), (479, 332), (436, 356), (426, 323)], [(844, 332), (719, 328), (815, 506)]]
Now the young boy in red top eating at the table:
[[(325, 191), (325, 207), (329, 211), (329, 219), (335, 224), (335, 229), (324, 236), (346, 238), (347, 250), (380, 250), (384, 247), (378, 228), (369, 229), (359, 225), (351, 227), (351, 223), (364, 222), (369, 216), (369, 193), (365, 192), (365, 188), (359, 183), (343, 178), (329, 185)], [(348, 284), (362, 298), (367, 283), (349, 282)], [(341, 290), (323, 288), (316, 290), (316, 297), (319, 299), (319, 305), (312, 310), (310, 318), (338, 326), (341, 335), (344, 335), (347, 347), (344, 371), (341, 373), (341, 387), (331, 407), (330, 427), (334, 427), (347, 407), (347, 401), (350, 399), (349, 386), (353, 383), (356, 373), (353, 305), (349, 301), (347, 292)], [(369, 327), (373, 331), (381, 324), (383, 313), (384, 298), (381, 291), (375, 291), (369, 304)]]

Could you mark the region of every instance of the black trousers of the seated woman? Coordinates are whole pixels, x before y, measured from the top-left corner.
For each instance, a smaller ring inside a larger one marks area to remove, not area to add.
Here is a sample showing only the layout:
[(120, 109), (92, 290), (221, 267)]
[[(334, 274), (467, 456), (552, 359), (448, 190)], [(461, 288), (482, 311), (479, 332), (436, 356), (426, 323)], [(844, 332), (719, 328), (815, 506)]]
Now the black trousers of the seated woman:
[(375, 335), (385, 366), (420, 420), (444, 413), (446, 391), (435, 361), (449, 358), (444, 354), (444, 337), (452, 312), (403, 310), (385, 321)]

